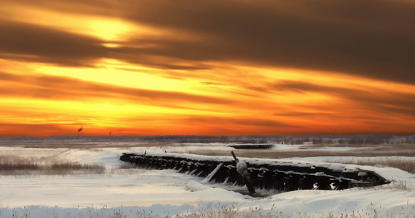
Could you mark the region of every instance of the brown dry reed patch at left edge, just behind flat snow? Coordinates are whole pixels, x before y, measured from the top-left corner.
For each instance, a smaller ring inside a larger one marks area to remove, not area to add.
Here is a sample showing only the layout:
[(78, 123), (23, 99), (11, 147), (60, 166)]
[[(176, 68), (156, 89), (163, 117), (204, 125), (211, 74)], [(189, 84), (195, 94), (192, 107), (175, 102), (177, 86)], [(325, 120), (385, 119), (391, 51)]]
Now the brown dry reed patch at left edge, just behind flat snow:
[(105, 165), (75, 161), (44, 161), (36, 158), (0, 159), (0, 175), (104, 174)]

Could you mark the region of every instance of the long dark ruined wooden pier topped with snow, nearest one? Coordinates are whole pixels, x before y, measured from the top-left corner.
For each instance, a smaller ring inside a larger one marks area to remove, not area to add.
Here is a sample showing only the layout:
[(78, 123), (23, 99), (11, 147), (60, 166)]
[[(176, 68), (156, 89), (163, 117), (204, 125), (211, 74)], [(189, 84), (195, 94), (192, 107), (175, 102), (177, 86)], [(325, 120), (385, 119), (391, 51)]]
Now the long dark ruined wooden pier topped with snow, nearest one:
[[(256, 189), (294, 191), (298, 189), (340, 190), (389, 183), (376, 172), (347, 169), (340, 164), (281, 162), (239, 158), (247, 163), (249, 178)], [(174, 169), (178, 173), (209, 177), (207, 182), (244, 185), (232, 157), (176, 153), (123, 153), (120, 160), (147, 169)]]

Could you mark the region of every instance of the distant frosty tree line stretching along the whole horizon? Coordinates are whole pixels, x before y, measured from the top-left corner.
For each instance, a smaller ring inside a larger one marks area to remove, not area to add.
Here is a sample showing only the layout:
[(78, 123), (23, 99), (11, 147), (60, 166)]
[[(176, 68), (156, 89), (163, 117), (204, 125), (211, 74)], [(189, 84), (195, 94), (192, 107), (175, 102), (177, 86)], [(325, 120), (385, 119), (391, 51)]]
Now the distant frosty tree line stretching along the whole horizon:
[(415, 143), (413, 136), (20, 136), (2, 137), (0, 142), (22, 143), (284, 143), (284, 144), (350, 144), (381, 145)]

